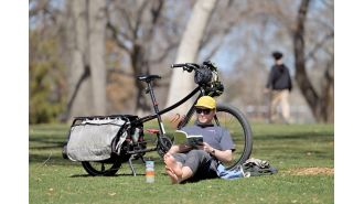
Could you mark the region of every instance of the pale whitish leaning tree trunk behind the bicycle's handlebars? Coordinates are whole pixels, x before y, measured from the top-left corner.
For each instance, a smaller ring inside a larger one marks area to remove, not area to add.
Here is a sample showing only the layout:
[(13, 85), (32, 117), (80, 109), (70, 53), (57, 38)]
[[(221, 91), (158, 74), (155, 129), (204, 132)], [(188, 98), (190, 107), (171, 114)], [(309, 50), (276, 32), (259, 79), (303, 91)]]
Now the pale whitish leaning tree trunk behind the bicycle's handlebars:
[[(216, 0), (199, 0), (194, 4), (192, 15), (183, 33), (181, 44), (178, 50), (175, 63), (194, 63), (197, 58), (199, 47), (201, 45), (205, 28)], [(181, 68), (173, 69), (171, 85), (169, 89), (167, 106), (170, 106), (182, 99), (193, 90), (193, 74), (182, 72)], [(185, 114), (192, 101), (185, 103), (174, 110), (174, 114)], [(170, 114), (172, 116), (173, 114)]]

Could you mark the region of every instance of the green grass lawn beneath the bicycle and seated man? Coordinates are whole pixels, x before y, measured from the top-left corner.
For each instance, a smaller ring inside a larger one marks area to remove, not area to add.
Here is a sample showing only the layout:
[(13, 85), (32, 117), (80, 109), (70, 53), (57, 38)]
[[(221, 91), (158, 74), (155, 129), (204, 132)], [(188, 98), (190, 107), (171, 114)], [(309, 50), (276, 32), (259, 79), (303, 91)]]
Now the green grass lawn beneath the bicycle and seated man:
[(127, 164), (116, 176), (88, 176), (81, 163), (62, 159), (68, 127), (30, 127), (30, 203), (333, 203), (334, 175), (298, 174), (307, 168), (334, 167), (333, 125), (251, 126), (253, 158), (268, 160), (278, 174), (233, 181), (204, 180), (171, 185), (156, 152), (156, 183), (144, 182), (144, 167), (136, 161), (138, 175)]

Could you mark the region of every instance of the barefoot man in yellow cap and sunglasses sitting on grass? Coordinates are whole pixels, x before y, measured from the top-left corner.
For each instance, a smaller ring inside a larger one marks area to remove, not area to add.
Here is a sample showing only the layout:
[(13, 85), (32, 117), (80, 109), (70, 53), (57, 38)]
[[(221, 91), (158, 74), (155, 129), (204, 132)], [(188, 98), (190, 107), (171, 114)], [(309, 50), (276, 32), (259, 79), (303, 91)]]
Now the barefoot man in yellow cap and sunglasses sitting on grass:
[(201, 97), (195, 110), (195, 125), (182, 130), (188, 135), (203, 136), (203, 142), (197, 147), (174, 144), (164, 154), (165, 171), (173, 184), (217, 178), (217, 162), (233, 160), (234, 143), (228, 130), (212, 122), (216, 114), (215, 99)]

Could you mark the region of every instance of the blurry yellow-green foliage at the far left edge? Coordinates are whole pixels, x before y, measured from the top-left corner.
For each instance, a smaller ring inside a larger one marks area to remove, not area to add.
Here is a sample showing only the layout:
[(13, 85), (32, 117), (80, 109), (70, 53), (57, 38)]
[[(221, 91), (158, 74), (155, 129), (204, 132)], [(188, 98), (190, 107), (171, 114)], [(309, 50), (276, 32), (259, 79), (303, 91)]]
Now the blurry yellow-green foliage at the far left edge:
[(65, 107), (64, 67), (55, 39), (30, 31), (30, 124), (53, 122)]

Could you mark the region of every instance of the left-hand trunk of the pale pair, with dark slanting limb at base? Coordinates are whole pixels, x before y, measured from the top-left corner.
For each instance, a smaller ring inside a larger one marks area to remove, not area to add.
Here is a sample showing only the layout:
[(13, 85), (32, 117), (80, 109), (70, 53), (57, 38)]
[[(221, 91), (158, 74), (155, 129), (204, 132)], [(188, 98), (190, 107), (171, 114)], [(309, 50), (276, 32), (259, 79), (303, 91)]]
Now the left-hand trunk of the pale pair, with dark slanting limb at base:
[(64, 120), (86, 115), (93, 108), (87, 54), (87, 2), (85, 0), (67, 1), (67, 10), (66, 49), (69, 52), (69, 71), (67, 74), (68, 101)]

